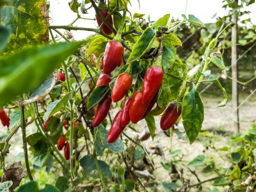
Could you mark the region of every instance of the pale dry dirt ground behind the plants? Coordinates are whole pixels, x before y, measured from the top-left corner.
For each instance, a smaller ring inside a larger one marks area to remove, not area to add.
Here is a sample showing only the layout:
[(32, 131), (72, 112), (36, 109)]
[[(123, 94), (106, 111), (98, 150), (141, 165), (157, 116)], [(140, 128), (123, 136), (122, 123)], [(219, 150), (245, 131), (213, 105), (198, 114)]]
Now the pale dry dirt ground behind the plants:
[[(249, 94), (240, 94), (239, 102), (242, 102)], [(202, 129), (204, 130), (210, 130), (210, 132), (213, 132), (215, 130), (224, 130), (228, 131), (230, 133), (230, 136), (232, 135), (232, 113), (231, 113), (231, 102), (229, 101), (225, 107), (222, 108), (216, 108), (218, 103), (221, 102), (220, 98), (213, 98), (212, 96), (209, 97), (208, 95), (202, 95), (202, 100), (204, 102), (205, 106), (205, 120), (202, 125)], [(254, 94), (252, 97), (248, 99), (247, 102), (245, 102), (241, 108), (239, 108), (239, 115), (240, 115), (240, 127), (241, 127), (241, 133), (246, 133), (246, 130), (248, 128), (251, 128), (252, 123), (256, 120), (256, 94)], [(163, 131), (160, 129), (160, 117), (156, 117), (156, 135), (154, 141), (149, 138), (146, 141), (143, 141), (143, 145), (147, 148), (147, 150), (150, 153), (153, 153), (153, 150), (149, 149), (149, 144), (160, 144), (163, 147), (164, 150), (164, 156), (156, 156), (154, 158), (154, 164), (157, 168), (157, 171), (155, 174), (156, 180), (159, 182), (171, 182), (170, 176), (168, 172), (166, 172), (162, 166), (161, 161), (166, 161), (169, 158), (169, 147), (170, 147), (170, 138), (166, 136)], [(142, 132), (143, 129), (146, 127), (146, 122), (142, 120), (136, 125), (136, 128)], [(179, 130), (182, 131), (182, 123), (179, 123), (178, 125)], [(27, 128), (28, 135), (30, 133), (33, 133), (35, 130), (33, 126), (29, 126)], [(126, 129), (125, 131), (129, 136), (133, 137), (135, 136), (135, 132), (131, 131), (130, 129)], [(3, 141), (5, 137), (8, 135), (6, 128), (2, 127), (0, 125), (0, 140)], [(228, 142), (230, 139), (229, 136), (219, 136), (218, 140), (218, 147), (224, 146), (225, 143)], [(17, 161), (18, 159), (23, 160), (23, 148), (22, 148), (22, 138), (21, 138), (21, 131), (19, 130), (13, 138), (10, 140), (10, 154), (8, 154), (6, 158), (6, 162), (13, 162)], [(204, 147), (202, 145), (202, 141), (195, 141), (192, 145), (189, 144), (188, 140), (182, 140), (178, 139), (177, 135), (174, 134), (172, 136), (172, 149), (177, 150), (181, 149), (182, 154), (184, 154), (184, 160), (189, 162), (192, 159), (194, 159), (197, 155), (203, 154)], [(207, 151), (208, 154), (213, 153), (213, 151)], [(155, 156), (155, 155), (153, 155)], [(21, 157), (21, 158), (20, 158)], [(190, 177), (191, 175), (188, 174), (187, 177)], [(194, 176), (193, 176), (194, 177)], [(205, 179), (205, 178), (202, 178)], [(195, 180), (191, 177), (191, 180)], [(196, 182), (196, 180), (195, 180)], [(207, 184), (206, 184), (207, 186)], [(158, 191), (162, 191), (162, 189), (159, 189)]]

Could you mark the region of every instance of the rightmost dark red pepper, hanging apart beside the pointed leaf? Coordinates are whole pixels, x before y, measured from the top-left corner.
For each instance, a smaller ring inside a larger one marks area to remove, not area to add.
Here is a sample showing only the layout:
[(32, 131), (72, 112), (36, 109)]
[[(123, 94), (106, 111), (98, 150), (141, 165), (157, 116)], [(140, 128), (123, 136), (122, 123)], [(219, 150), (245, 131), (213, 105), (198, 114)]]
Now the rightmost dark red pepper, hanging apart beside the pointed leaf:
[(174, 123), (179, 118), (182, 108), (179, 106), (177, 111), (177, 104), (175, 102), (171, 102), (168, 107), (164, 110), (164, 113), (160, 120), (160, 127), (162, 130), (167, 130), (174, 125)]

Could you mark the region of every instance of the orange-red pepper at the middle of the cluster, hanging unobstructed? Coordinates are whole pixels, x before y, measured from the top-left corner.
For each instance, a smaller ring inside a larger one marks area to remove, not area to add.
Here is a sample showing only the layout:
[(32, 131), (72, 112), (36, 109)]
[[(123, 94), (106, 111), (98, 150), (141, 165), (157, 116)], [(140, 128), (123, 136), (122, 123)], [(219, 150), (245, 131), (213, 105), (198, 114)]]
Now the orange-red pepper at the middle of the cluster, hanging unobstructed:
[(111, 98), (113, 102), (118, 102), (123, 99), (123, 97), (129, 91), (132, 83), (133, 79), (127, 73), (121, 73), (120, 75), (118, 75), (118, 78), (115, 80), (115, 84), (111, 93)]

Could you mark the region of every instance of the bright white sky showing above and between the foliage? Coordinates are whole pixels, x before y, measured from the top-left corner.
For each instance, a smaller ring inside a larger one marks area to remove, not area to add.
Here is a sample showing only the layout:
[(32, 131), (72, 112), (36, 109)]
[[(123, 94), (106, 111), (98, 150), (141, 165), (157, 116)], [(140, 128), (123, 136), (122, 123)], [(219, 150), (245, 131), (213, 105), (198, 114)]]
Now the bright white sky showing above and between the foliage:
[[(76, 13), (70, 10), (68, 2), (70, 0), (50, 0), (50, 25), (68, 25), (76, 18)], [(80, 2), (80, 1), (79, 1)], [(150, 14), (151, 20), (158, 20), (163, 15), (170, 13), (170, 17), (182, 19), (184, 14), (186, 0), (140, 0), (141, 9), (139, 9), (138, 1), (131, 0), (132, 7), (129, 6), (131, 13), (146, 14), (144, 17), (147, 18)], [(89, 4), (88, 4), (89, 5)], [(187, 13), (195, 15), (203, 23), (214, 23), (215, 19), (212, 16), (217, 13), (217, 17), (222, 17), (228, 13), (227, 10), (222, 8), (222, 0), (188, 0)], [(246, 10), (250, 10), (251, 14), (249, 17), (252, 22), (256, 23), (256, 3), (250, 5)], [(81, 14), (84, 18), (94, 18), (95, 11), (91, 8), (88, 11), (89, 14)], [(245, 18), (247, 18), (246, 16)], [(244, 19), (244, 18), (243, 18)], [(79, 19), (74, 26), (95, 28), (97, 25), (94, 20), (83, 20)], [(64, 33), (64, 30), (59, 30)], [(92, 32), (88, 31), (72, 31), (75, 40), (86, 38)], [(54, 33), (56, 34), (56, 33)]]

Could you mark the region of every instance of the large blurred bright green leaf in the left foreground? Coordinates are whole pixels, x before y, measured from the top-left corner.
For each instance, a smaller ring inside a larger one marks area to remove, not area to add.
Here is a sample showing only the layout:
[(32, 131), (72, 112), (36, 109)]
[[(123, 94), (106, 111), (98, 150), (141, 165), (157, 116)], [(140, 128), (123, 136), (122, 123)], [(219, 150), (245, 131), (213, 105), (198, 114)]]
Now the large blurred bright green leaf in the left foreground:
[(33, 90), (81, 45), (82, 41), (50, 44), (20, 50), (1, 58), (0, 106), (23, 92)]

